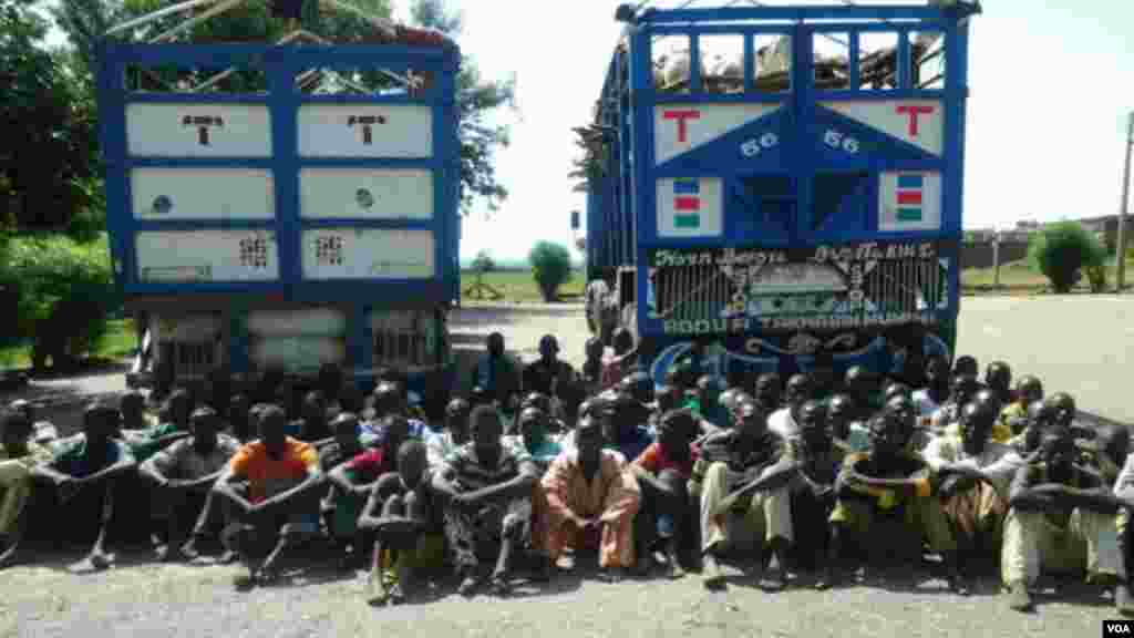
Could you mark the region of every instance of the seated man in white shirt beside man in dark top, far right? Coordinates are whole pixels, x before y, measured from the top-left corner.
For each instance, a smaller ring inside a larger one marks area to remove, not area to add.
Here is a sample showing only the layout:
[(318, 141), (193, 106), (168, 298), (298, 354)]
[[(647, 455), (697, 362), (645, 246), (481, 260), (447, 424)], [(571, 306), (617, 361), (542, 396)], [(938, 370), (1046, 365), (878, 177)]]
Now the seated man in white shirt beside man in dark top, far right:
[(968, 554), (1000, 551), (1008, 488), (1024, 464), (1012, 447), (989, 439), (997, 415), (988, 404), (966, 404), (959, 436), (938, 436), (923, 454), (943, 477), (941, 504), (958, 548)]

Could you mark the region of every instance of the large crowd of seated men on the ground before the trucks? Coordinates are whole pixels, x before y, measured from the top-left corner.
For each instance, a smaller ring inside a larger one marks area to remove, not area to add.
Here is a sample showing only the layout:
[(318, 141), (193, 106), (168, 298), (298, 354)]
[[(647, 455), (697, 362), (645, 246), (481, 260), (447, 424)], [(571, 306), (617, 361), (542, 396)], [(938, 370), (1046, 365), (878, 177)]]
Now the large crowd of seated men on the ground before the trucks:
[[(676, 373), (655, 392), (627, 372), (575, 422), (539, 393), (507, 419), (482, 389), (426, 423), (397, 380), (365, 410), (352, 386), (308, 393), (299, 419), (270, 403), (245, 414), (239, 401), (222, 414), (185, 388), (151, 418), (132, 393), (57, 440), (16, 405), (2, 418), (0, 562), (29, 559), (25, 535), (90, 528), (90, 562), (105, 568), (113, 523), (136, 529), (145, 510), (163, 559), (219, 537), (245, 584), (274, 579), (289, 548), (327, 535), (346, 564), (370, 562), (372, 603), (404, 601), (415, 574), (445, 564), (462, 594), (505, 595), (516, 570), (551, 578), (575, 548), (595, 551), (611, 579), (700, 569), (708, 587), (731, 556), (767, 590), (793, 568), (826, 589), (847, 560), (870, 571), (930, 553), (966, 594), (973, 566), (998, 559), (1013, 608), (1031, 606), (1044, 570), (1085, 572), (1131, 605), (1128, 435), (1090, 440), (1074, 401), (1044, 397), (1035, 378), (1012, 391), (1006, 364), (982, 381), (971, 358), (951, 370), (930, 359), (916, 392), (852, 368), (820, 395), (807, 375), (722, 388)], [(152, 507), (133, 498), (143, 489)]]

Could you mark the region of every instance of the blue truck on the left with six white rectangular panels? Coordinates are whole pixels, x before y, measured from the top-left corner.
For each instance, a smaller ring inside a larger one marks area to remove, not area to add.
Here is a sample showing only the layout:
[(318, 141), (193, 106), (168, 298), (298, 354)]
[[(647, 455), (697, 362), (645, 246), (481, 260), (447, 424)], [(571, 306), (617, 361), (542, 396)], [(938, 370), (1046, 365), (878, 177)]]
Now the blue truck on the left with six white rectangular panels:
[(130, 384), (335, 363), (363, 388), (383, 367), (418, 395), (448, 387), (459, 50), (365, 16), (374, 33), (349, 44), (297, 23), (175, 42), (212, 9), (155, 34), (200, 3), (98, 50), (111, 258), (143, 345)]

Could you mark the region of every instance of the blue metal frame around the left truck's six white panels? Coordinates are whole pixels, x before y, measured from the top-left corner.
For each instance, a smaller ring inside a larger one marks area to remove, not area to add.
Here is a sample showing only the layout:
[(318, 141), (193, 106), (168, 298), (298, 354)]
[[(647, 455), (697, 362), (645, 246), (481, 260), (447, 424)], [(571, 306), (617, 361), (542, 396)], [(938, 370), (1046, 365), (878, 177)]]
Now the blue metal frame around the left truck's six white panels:
[[(459, 295), (459, 142), (457, 137), (456, 74), (460, 53), (455, 47), (270, 44), (119, 44), (98, 47), (101, 141), (107, 166), (107, 226), (111, 236), (116, 282), (126, 295), (193, 294), (197, 292), (266, 293), (294, 302), (358, 302), (382, 304), (386, 300), (412, 299), (418, 305), (447, 304)], [(230, 66), (263, 68), (265, 94), (155, 94), (128, 92), (124, 74), (128, 65), (175, 65), (183, 68), (223, 69)], [(432, 72), (433, 87), (422, 95), (304, 95), (295, 89), (295, 76), (308, 68), (386, 68)], [(125, 111), (129, 103), (260, 103), (271, 112), (271, 158), (147, 158), (130, 157), (126, 143)], [(425, 104), (433, 115), (432, 156), (424, 159), (301, 158), (297, 151), (298, 109), (307, 103)], [(134, 218), (130, 169), (158, 167), (253, 167), (273, 174), (277, 217), (271, 220), (142, 221)], [(308, 166), (420, 167), (433, 171), (434, 216), (430, 220), (304, 220), (299, 211), (298, 171)], [(358, 228), (421, 228), (433, 232), (435, 276), (429, 279), (305, 280), (302, 276), (303, 228), (349, 226)], [(276, 230), (280, 278), (265, 283), (155, 284), (137, 279), (133, 238), (153, 229), (263, 228)]]

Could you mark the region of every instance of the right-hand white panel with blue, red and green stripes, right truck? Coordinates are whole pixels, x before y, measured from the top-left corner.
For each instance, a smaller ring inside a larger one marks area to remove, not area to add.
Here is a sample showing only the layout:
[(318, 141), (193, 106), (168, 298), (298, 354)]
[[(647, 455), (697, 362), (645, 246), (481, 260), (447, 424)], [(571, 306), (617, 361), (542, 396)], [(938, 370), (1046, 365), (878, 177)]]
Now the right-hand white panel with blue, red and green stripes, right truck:
[(941, 174), (934, 171), (882, 173), (879, 188), (878, 229), (939, 230), (941, 228)]

